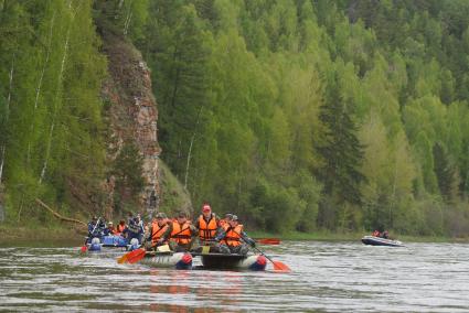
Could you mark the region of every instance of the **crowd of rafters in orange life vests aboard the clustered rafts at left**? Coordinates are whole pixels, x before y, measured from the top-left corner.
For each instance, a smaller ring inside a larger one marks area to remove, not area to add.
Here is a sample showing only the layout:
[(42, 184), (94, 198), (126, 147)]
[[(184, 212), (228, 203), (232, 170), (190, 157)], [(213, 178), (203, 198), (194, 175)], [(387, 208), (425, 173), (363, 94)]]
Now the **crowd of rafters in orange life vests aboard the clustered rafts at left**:
[[(97, 225), (97, 226), (96, 226)], [(202, 206), (201, 215), (192, 223), (185, 212), (179, 212), (174, 218), (158, 213), (147, 226), (140, 215), (129, 213), (127, 224), (120, 220), (115, 229), (113, 223), (105, 226), (104, 219), (96, 217), (88, 224), (90, 237), (120, 235), (129, 241), (137, 238), (147, 250), (157, 250), (168, 245), (172, 251), (220, 252), (246, 255), (256, 242), (247, 236), (238, 217), (226, 214), (220, 218), (212, 212), (210, 204)], [(94, 230), (97, 229), (97, 230)], [(106, 230), (107, 229), (107, 230)]]

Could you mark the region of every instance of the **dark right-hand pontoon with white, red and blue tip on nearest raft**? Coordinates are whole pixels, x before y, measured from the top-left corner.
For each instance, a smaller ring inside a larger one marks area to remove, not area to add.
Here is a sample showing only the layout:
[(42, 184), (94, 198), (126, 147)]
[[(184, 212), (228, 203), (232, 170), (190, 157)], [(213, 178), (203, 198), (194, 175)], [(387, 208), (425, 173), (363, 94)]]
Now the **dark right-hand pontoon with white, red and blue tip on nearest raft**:
[(201, 257), (204, 269), (236, 269), (263, 271), (266, 269), (267, 259), (262, 255), (243, 256), (234, 253), (196, 253), (192, 256)]

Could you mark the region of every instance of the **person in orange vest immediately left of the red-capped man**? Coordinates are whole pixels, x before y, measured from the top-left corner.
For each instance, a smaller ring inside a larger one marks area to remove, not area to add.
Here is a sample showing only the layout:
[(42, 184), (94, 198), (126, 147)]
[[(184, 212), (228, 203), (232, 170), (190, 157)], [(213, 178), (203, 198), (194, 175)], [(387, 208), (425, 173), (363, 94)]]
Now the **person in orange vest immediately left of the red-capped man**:
[(198, 229), (188, 219), (185, 212), (179, 212), (177, 218), (171, 222), (171, 226), (170, 249), (175, 252), (189, 251), (193, 238), (198, 235)]

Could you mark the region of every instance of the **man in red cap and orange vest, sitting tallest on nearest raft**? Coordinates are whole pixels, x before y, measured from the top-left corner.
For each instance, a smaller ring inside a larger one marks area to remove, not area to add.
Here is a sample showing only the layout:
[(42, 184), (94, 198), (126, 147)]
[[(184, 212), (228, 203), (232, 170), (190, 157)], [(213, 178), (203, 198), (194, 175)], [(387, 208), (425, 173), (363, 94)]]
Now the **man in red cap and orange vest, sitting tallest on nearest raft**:
[(216, 248), (215, 235), (220, 227), (220, 219), (214, 213), (212, 213), (212, 207), (210, 204), (205, 203), (202, 206), (202, 214), (195, 220), (194, 227), (199, 231), (200, 245), (200, 247), (193, 248), (194, 251), (202, 251), (202, 246), (210, 246), (211, 252), (218, 252), (218, 249)]

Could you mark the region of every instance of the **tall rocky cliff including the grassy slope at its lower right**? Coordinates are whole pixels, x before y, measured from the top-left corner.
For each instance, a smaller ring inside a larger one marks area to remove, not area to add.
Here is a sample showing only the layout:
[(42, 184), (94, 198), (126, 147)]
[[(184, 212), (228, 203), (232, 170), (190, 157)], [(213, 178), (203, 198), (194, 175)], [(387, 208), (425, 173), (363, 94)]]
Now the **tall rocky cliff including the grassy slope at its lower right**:
[[(141, 158), (142, 191), (138, 195), (139, 212), (147, 217), (156, 211), (171, 214), (174, 209), (192, 212), (188, 192), (159, 159), (158, 110), (152, 95), (150, 71), (140, 52), (122, 35), (111, 29), (98, 28), (103, 39), (103, 53), (108, 60), (109, 77), (103, 86), (107, 136), (107, 159), (113, 164), (126, 143), (134, 143)], [(132, 170), (132, 169), (131, 169)], [(131, 197), (116, 188), (116, 179), (109, 174), (104, 183), (107, 192), (105, 215), (115, 215), (115, 198)], [(119, 215), (125, 214), (119, 212)]]

